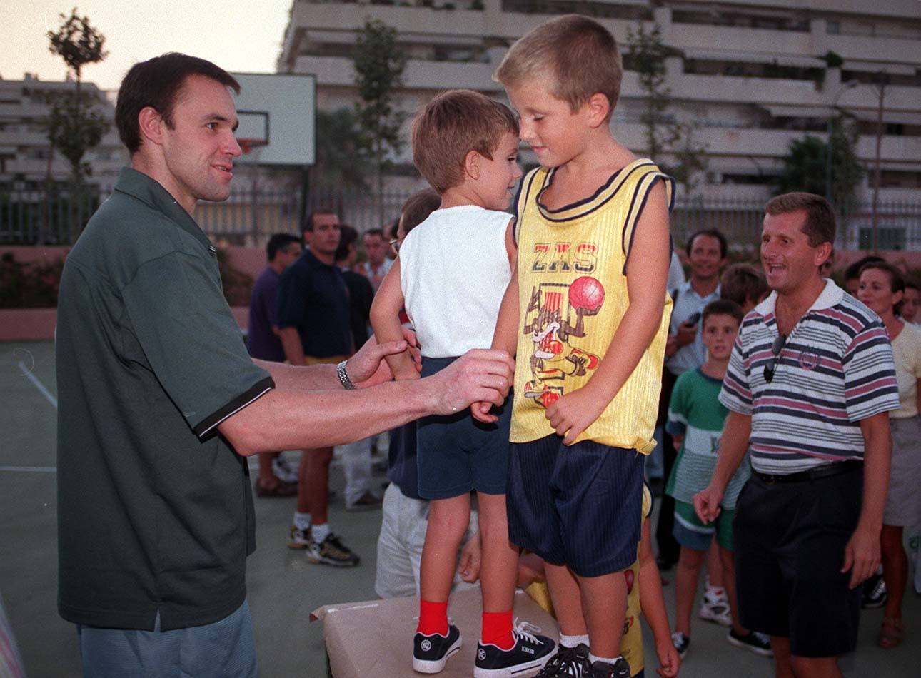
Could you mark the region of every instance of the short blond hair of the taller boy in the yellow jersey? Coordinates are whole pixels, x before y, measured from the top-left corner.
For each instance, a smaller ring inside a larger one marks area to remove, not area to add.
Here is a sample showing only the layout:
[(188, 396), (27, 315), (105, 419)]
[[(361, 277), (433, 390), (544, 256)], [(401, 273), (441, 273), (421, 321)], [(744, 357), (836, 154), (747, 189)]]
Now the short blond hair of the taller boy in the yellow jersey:
[(621, 95), (624, 66), (611, 32), (597, 21), (567, 14), (543, 22), (511, 46), (493, 79), (516, 88), (527, 79), (550, 73), (550, 93), (577, 111), (594, 94), (608, 98), (611, 119)]

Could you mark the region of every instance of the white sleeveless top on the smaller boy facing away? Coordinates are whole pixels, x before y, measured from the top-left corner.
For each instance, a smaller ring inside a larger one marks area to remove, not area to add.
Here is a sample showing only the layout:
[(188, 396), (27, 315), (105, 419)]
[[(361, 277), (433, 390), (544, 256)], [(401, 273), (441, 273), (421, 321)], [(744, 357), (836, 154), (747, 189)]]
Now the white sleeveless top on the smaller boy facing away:
[(427, 357), (489, 348), (511, 269), (511, 215), (476, 205), (437, 209), (400, 246), (406, 314)]

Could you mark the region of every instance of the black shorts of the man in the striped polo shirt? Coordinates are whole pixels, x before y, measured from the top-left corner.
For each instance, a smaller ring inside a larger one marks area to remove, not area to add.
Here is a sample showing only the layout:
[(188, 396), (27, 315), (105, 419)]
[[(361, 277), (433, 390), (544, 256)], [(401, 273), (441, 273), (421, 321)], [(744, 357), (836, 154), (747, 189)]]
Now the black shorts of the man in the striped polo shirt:
[(860, 587), (841, 567), (862, 492), (860, 469), (775, 485), (752, 475), (732, 526), (741, 625), (788, 637), (798, 657), (855, 648)]

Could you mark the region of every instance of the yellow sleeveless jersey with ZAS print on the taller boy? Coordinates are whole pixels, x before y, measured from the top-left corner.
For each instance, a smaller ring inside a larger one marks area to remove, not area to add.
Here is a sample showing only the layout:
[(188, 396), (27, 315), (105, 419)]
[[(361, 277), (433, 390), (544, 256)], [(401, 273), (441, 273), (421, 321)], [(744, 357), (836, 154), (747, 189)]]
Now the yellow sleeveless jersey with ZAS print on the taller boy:
[[(541, 205), (554, 170), (534, 169), (522, 180), (517, 205), (519, 341), (511, 441), (554, 433), (547, 407), (582, 388), (608, 353), (630, 304), (626, 263), (634, 228), (657, 181), (669, 208), (673, 180), (646, 158), (614, 173), (594, 195), (550, 210)], [(652, 342), (620, 392), (576, 438), (648, 454), (659, 409), (662, 360), (671, 298)], [(616, 346), (612, 359), (617, 359)]]

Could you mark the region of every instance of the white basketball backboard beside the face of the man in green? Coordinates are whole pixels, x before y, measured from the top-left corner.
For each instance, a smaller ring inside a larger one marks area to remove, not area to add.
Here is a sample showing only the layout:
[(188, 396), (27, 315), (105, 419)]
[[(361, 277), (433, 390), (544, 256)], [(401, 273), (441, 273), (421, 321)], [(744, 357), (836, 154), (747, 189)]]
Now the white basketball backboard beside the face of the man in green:
[(271, 73), (231, 75), (240, 85), (237, 138), (258, 147), (252, 160), (261, 166), (312, 165), (316, 158), (316, 78)]

